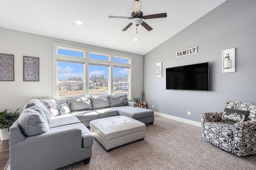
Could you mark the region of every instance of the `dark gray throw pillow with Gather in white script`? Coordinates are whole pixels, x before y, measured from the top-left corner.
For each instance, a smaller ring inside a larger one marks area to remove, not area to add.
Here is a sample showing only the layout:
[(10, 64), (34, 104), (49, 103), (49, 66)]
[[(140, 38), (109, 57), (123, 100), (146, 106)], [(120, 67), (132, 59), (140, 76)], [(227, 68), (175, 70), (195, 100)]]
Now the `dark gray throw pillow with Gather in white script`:
[(225, 108), (220, 121), (234, 125), (235, 123), (247, 121), (250, 111)]

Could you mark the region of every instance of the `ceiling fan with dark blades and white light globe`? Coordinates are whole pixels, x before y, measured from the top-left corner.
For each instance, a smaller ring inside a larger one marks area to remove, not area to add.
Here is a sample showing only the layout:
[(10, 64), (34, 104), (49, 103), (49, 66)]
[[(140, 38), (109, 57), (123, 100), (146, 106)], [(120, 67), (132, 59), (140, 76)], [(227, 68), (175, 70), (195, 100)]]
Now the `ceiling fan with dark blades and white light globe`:
[(143, 21), (147, 19), (153, 19), (153, 18), (166, 18), (166, 13), (161, 14), (152, 14), (143, 16), (143, 12), (141, 12), (141, 2), (139, 0), (134, 1), (134, 12), (132, 12), (131, 17), (122, 17), (122, 16), (108, 16), (108, 18), (122, 18), (122, 19), (132, 19), (132, 21), (122, 29), (122, 31), (126, 31), (132, 24), (136, 25), (136, 30), (139, 25), (142, 25), (146, 30), (151, 31), (153, 28), (150, 27), (146, 22)]

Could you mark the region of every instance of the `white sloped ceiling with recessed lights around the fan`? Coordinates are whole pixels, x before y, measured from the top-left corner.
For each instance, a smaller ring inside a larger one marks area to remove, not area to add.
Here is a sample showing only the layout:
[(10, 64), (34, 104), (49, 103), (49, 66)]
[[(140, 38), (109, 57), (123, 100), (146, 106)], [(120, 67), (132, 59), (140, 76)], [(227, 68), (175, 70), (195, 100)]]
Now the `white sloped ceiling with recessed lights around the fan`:
[[(134, 0), (0, 0), (0, 27), (144, 55), (226, 0), (140, 0), (153, 30), (132, 25)], [(76, 25), (81, 20), (82, 25)], [(134, 38), (138, 41), (133, 41)]]

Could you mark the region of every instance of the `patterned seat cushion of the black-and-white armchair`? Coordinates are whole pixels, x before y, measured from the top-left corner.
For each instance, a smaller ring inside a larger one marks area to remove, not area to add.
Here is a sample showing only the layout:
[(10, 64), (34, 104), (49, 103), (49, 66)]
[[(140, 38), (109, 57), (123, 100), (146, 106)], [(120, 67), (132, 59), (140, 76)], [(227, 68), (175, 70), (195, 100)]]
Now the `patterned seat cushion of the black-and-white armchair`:
[(204, 123), (204, 129), (215, 135), (233, 140), (234, 125), (223, 122), (206, 122)]

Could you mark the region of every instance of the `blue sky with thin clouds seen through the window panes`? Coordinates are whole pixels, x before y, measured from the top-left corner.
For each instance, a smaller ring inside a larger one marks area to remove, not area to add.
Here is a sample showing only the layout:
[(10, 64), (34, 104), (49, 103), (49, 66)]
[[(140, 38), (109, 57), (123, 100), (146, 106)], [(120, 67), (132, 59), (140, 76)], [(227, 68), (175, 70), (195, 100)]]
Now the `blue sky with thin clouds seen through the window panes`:
[[(60, 49), (58, 49), (60, 50)], [(58, 54), (62, 55), (70, 55), (75, 57), (83, 57), (82, 52), (77, 51), (68, 51), (68, 50), (62, 50), (58, 51)], [(90, 59), (102, 59), (104, 61), (107, 61), (108, 58), (106, 56), (101, 55), (95, 55), (90, 54)], [(128, 63), (125, 59), (118, 59), (114, 58), (114, 62), (119, 63)], [(58, 80), (67, 80), (68, 78), (71, 78), (71, 71), (72, 71), (72, 77), (82, 77), (83, 78), (83, 64), (79, 63), (68, 63), (68, 62), (60, 62), (58, 61)], [(101, 76), (104, 75), (106, 78), (108, 78), (108, 66), (98, 66), (98, 65), (89, 65), (89, 78), (91, 76)], [(128, 69), (127, 68), (113, 68), (113, 76), (122, 76), (128, 75)]]

